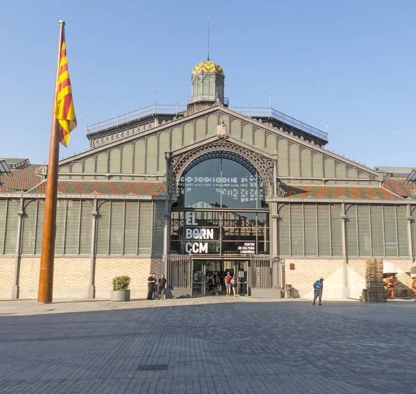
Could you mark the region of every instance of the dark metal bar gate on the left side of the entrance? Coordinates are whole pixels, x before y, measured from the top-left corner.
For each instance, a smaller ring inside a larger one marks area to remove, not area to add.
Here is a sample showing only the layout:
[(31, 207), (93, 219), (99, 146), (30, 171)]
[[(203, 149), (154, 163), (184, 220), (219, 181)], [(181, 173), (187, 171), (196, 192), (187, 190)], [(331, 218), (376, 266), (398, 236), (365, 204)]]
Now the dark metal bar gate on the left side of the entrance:
[(192, 296), (192, 255), (164, 256), (168, 297)]

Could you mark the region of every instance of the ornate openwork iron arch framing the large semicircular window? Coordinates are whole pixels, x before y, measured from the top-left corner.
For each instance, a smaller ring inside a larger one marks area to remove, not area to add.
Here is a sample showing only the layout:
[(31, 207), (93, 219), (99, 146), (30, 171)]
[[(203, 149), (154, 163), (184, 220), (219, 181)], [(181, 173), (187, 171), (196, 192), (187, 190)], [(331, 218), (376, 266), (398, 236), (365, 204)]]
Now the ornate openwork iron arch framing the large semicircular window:
[(266, 197), (272, 196), (273, 191), (273, 161), (259, 155), (248, 148), (232, 144), (226, 141), (218, 141), (207, 146), (195, 148), (192, 151), (177, 155), (171, 158), (173, 169), (171, 194), (177, 193), (180, 178), (182, 174), (189, 171), (193, 166), (205, 160), (213, 158), (227, 158), (234, 160), (245, 166), (252, 175), (259, 173), (263, 186), (266, 191)]

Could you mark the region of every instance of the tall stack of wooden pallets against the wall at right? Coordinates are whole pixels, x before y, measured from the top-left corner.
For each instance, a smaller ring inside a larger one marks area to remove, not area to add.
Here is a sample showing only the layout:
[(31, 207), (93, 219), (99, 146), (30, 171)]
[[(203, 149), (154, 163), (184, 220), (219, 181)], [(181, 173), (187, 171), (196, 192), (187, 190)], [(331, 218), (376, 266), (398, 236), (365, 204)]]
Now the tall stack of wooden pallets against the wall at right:
[(386, 302), (383, 286), (383, 259), (366, 259), (365, 285), (360, 301)]

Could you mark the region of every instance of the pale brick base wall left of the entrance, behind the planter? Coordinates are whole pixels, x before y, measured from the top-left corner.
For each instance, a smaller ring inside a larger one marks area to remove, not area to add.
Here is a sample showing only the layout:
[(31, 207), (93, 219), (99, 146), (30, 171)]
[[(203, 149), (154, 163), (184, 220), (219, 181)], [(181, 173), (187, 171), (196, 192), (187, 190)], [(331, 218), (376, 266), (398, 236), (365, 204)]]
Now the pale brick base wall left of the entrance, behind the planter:
[[(56, 257), (53, 272), (53, 298), (88, 298), (89, 257)], [(0, 258), (0, 299), (12, 298), (15, 258)], [(128, 275), (131, 298), (146, 298), (150, 272), (162, 273), (162, 259), (97, 257), (95, 297), (110, 299), (114, 276)], [(19, 298), (37, 298), (40, 257), (21, 257)]]

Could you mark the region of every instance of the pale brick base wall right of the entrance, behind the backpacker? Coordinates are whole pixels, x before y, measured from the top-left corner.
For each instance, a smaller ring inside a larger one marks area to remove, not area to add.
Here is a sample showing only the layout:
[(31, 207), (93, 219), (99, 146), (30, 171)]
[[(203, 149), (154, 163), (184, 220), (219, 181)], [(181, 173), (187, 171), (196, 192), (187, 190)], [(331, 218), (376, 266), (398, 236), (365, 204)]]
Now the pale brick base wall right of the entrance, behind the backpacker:
[[(384, 258), (395, 264), (397, 271), (397, 296), (411, 295), (412, 278), (408, 259)], [(294, 270), (291, 270), (293, 264)], [(324, 277), (324, 298), (343, 298), (343, 259), (291, 259), (285, 258), (286, 284), (292, 285), (293, 298), (313, 298), (313, 282)], [(365, 289), (365, 258), (349, 259), (347, 264), (347, 298), (359, 299)]]

